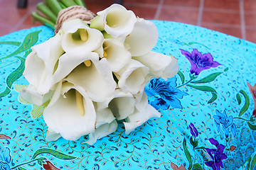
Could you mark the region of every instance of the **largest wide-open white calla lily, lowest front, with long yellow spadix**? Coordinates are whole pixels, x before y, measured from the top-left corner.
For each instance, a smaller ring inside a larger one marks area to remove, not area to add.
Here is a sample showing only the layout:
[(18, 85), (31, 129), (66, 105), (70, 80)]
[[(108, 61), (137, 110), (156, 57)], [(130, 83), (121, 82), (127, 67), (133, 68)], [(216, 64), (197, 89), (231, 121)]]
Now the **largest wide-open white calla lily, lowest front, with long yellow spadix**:
[[(66, 140), (78, 140), (82, 135), (95, 130), (95, 107), (80, 86), (63, 86), (62, 91), (65, 95), (60, 95), (55, 103), (50, 103), (43, 112), (43, 118), (53, 132), (59, 133)], [(78, 94), (82, 96), (81, 101), (76, 98)], [(78, 108), (80, 102), (83, 114)]]

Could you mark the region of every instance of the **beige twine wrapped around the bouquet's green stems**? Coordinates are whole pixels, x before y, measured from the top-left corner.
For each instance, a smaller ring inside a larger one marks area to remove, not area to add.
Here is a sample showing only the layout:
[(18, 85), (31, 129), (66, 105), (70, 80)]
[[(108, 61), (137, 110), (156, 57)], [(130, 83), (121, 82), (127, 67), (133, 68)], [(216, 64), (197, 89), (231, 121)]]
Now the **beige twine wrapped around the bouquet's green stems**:
[(79, 18), (82, 21), (85, 21), (85, 23), (90, 24), (90, 21), (92, 20), (92, 18), (95, 18), (95, 16), (95, 13), (83, 6), (70, 6), (68, 8), (64, 8), (58, 13), (54, 33), (58, 33), (58, 31), (62, 27), (63, 22), (65, 21)]

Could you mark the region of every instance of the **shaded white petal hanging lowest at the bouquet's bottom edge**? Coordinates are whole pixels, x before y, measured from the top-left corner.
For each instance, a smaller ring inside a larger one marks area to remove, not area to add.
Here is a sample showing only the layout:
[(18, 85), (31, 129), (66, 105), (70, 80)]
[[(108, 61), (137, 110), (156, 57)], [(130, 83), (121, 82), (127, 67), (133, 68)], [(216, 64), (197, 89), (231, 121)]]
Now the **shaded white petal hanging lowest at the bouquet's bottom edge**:
[(110, 135), (112, 132), (115, 132), (116, 130), (117, 122), (116, 120), (113, 120), (112, 123), (106, 123), (104, 125), (101, 125), (99, 128), (95, 130), (95, 132), (90, 133), (89, 140), (87, 140), (85, 143), (93, 145), (95, 144), (97, 139)]

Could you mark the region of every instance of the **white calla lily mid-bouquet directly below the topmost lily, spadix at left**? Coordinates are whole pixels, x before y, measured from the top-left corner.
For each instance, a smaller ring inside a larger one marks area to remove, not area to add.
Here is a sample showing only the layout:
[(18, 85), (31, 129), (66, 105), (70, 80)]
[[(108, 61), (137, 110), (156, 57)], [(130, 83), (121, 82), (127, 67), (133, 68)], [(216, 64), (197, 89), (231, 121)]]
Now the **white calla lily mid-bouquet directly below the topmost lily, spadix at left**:
[(124, 47), (124, 43), (117, 39), (105, 39), (103, 50), (103, 56), (110, 63), (113, 72), (118, 72), (132, 58), (131, 54)]

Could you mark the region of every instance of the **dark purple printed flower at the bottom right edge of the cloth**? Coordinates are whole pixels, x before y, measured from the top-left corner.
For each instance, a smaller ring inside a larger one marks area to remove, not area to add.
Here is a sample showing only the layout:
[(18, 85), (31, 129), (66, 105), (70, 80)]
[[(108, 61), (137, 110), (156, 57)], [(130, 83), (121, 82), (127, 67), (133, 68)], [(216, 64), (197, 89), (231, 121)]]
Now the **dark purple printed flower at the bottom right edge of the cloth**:
[(206, 148), (207, 153), (210, 155), (211, 161), (206, 162), (206, 166), (210, 166), (213, 170), (219, 170), (220, 167), (223, 168), (223, 159), (227, 159), (227, 155), (223, 153), (225, 146), (219, 144), (217, 140), (210, 138), (210, 143), (217, 147), (217, 149), (208, 149)]

